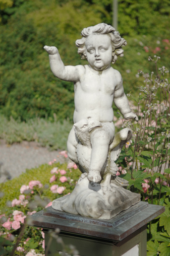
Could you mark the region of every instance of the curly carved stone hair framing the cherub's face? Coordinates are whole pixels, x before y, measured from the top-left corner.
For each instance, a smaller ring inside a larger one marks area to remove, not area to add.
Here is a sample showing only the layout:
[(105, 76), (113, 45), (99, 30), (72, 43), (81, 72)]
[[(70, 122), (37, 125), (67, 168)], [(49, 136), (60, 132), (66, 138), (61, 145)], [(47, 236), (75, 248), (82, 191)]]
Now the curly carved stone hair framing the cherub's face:
[(115, 28), (107, 25), (105, 23), (100, 23), (92, 27), (84, 28), (81, 32), (81, 39), (76, 40), (76, 46), (78, 47), (78, 54), (81, 56), (81, 59), (87, 59), (86, 56), (86, 46), (85, 41), (86, 37), (89, 35), (100, 35), (107, 34), (111, 39), (112, 46), (112, 63), (114, 64), (118, 56), (123, 57), (124, 50), (122, 49), (123, 45), (127, 45), (127, 41), (122, 38), (118, 31), (115, 31)]

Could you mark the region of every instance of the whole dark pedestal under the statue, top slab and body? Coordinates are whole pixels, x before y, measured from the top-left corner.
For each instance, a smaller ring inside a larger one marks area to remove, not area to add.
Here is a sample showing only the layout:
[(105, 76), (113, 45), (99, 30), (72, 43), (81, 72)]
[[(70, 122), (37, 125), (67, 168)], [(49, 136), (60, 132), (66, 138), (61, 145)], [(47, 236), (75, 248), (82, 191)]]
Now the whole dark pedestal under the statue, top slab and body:
[(73, 244), (82, 256), (145, 256), (146, 224), (164, 212), (164, 207), (139, 202), (110, 220), (97, 220), (53, 210), (48, 207), (29, 219), (43, 228), (46, 256), (62, 250), (60, 243), (50, 239), (49, 230), (59, 228), (65, 244)]

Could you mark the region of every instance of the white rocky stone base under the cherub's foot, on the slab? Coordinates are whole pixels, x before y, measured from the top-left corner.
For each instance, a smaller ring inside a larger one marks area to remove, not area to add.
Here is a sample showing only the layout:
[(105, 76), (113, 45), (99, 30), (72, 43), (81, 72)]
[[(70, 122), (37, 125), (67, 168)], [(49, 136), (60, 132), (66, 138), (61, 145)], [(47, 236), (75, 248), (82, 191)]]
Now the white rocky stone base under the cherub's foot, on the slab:
[(87, 177), (80, 177), (73, 192), (54, 200), (52, 208), (85, 217), (109, 220), (140, 202), (140, 198), (140, 194), (132, 193), (115, 183), (106, 186), (102, 183), (89, 182)]

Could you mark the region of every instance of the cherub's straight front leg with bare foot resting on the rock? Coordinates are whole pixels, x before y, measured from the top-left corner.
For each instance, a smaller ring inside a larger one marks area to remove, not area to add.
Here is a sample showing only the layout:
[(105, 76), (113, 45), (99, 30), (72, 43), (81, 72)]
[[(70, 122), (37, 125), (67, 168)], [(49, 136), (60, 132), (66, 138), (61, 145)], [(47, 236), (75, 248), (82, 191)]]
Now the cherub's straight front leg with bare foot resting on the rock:
[(91, 142), (91, 159), (89, 166), (88, 179), (99, 183), (101, 181), (101, 170), (107, 159), (109, 144), (114, 138), (114, 124), (103, 124), (101, 128), (92, 131), (90, 136)]

